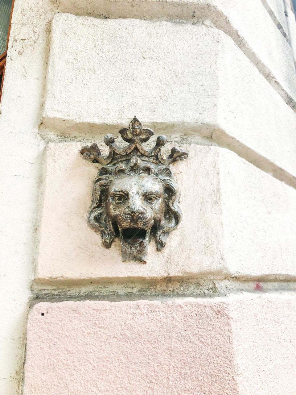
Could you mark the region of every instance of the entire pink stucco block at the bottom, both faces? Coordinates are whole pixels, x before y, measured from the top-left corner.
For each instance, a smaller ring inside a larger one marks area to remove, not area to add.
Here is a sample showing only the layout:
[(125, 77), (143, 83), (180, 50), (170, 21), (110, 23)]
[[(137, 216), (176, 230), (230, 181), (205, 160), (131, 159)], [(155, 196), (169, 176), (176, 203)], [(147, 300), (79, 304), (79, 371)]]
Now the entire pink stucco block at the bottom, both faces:
[(295, 314), (294, 294), (39, 303), (24, 395), (292, 395)]

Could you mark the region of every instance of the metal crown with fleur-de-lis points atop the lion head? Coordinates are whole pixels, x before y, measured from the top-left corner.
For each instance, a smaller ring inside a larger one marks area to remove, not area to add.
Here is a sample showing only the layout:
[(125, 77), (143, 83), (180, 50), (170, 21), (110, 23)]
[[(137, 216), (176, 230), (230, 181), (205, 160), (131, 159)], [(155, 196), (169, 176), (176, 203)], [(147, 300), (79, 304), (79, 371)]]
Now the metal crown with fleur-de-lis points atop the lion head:
[(127, 128), (121, 129), (119, 133), (122, 139), (129, 143), (129, 145), (123, 148), (118, 147), (115, 143), (114, 136), (107, 134), (104, 137), (104, 143), (109, 147), (109, 154), (107, 156), (101, 154), (96, 143), (93, 143), (90, 147), (83, 147), (80, 151), (82, 156), (92, 163), (99, 163), (101, 165), (115, 164), (129, 159), (131, 156), (138, 156), (146, 162), (165, 166), (169, 166), (182, 156), (188, 156), (187, 152), (173, 147), (170, 155), (165, 158), (161, 153), (161, 148), (167, 142), (167, 137), (163, 135), (157, 137), (156, 145), (152, 149), (146, 150), (142, 143), (148, 141), (154, 135), (154, 132), (149, 128), (143, 128), (142, 123), (136, 117), (133, 118)]

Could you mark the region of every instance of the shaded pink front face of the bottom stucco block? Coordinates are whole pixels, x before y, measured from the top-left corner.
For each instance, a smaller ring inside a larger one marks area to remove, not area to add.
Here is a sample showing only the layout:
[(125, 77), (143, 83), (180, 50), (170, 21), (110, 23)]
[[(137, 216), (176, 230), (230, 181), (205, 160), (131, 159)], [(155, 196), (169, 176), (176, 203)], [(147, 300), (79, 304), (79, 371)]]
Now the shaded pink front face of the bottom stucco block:
[(221, 302), (40, 303), (27, 336), (24, 395), (237, 393)]

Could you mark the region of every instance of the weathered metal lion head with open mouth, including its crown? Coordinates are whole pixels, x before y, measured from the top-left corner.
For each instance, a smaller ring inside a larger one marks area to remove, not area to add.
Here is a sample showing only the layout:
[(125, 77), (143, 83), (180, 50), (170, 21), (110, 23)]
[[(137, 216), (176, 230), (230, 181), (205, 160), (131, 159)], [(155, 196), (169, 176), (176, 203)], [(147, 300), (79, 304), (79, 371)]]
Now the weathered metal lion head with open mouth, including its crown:
[(120, 148), (111, 134), (105, 136), (110, 149), (106, 157), (96, 143), (81, 149), (84, 158), (103, 165), (92, 187), (88, 224), (101, 233), (106, 248), (120, 238), (123, 261), (146, 262), (152, 237), (157, 250), (161, 250), (180, 222), (178, 190), (169, 165), (187, 152), (172, 148), (165, 158), (161, 154), (165, 136), (157, 137), (153, 149), (144, 149), (142, 142), (154, 132), (143, 128), (137, 118), (119, 133), (129, 145)]

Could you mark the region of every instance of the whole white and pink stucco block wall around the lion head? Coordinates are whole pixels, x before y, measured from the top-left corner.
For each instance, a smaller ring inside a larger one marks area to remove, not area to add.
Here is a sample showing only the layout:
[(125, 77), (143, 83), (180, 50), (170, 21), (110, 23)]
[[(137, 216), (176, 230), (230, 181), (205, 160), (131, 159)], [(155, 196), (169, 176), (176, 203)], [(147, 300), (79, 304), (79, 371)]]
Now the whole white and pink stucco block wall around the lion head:
[[(295, 30), (274, 0), (15, 0), (1, 394), (295, 393)], [(191, 152), (183, 222), (147, 265), (86, 226), (79, 156), (134, 115)]]

